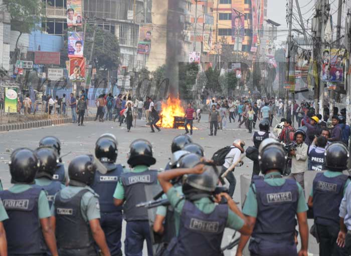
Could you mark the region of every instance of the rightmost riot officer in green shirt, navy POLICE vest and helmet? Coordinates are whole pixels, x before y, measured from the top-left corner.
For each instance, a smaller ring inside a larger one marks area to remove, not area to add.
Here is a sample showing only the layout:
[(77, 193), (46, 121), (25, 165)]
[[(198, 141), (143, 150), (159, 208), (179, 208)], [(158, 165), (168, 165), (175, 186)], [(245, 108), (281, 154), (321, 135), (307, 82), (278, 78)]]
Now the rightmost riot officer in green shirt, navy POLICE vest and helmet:
[[(339, 207), (350, 180), (342, 170), (347, 169), (348, 150), (340, 142), (331, 143), (325, 151), (327, 171), (317, 173), (308, 198), (313, 208), (314, 224), (319, 239), (319, 255), (348, 255), (336, 244), (339, 232)], [(327, 202), (327, 204), (326, 204)]]

